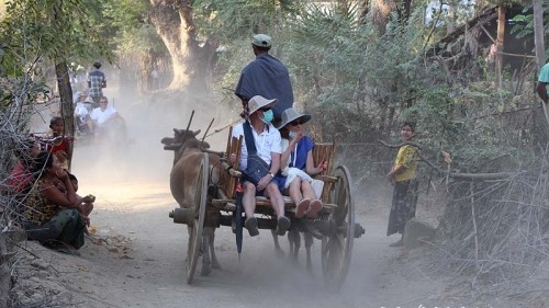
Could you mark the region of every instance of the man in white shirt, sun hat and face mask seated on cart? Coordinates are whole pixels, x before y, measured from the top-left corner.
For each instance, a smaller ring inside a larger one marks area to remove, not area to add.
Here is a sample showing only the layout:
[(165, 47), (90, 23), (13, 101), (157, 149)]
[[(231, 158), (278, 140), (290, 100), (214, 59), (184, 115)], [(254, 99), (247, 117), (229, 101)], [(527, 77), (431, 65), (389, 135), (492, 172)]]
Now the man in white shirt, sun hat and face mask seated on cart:
[[(280, 169), (280, 133), (270, 123), (273, 117), (272, 106), (277, 104), (277, 100), (267, 100), (264, 96), (256, 95), (248, 101), (248, 123), (251, 126), (254, 142), (257, 155), (267, 164), (269, 172), (262, 176), (257, 185), (250, 182), (250, 179), (244, 175), (243, 178), (243, 206), (246, 213), (246, 221), (244, 226), (248, 229), (251, 237), (259, 235), (257, 218), (254, 216), (256, 210), (256, 195), (265, 195), (270, 198), (272, 209), (277, 215), (277, 233), (283, 236), (290, 228), (290, 219), (284, 216), (284, 198), (280, 193), (280, 189), (284, 186), (283, 179), (274, 179), (274, 174)], [(238, 138), (245, 136), (245, 123), (236, 125), (233, 129), (233, 137)], [(245, 137), (244, 137), (245, 138)], [(234, 159), (234, 157), (232, 158)], [(248, 163), (248, 149), (246, 141), (243, 141), (239, 169), (246, 170)]]

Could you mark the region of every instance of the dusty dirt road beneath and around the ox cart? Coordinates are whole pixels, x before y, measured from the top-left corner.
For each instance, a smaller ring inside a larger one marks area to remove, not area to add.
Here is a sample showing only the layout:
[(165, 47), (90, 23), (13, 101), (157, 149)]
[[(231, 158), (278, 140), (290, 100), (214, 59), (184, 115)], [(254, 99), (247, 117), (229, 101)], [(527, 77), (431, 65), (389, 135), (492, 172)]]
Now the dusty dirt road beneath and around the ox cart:
[[(124, 110), (124, 105), (116, 107)], [(126, 106), (126, 111), (131, 109)], [(132, 141), (110, 150), (77, 145), (72, 172), (80, 182), (79, 193), (97, 196), (90, 217), (96, 233), (80, 250), (81, 256), (29, 243), (40, 259), (22, 271), (21, 292), (41, 298), (44, 289), (53, 288), (56, 292), (47, 294), (54, 299), (63, 297), (71, 307), (89, 308), (444, 306), (437, 299), (442, 287), (407, 267), (401, 249), (388, 247), (397, 238), (385, 237), (391, 189), (383, 181), (356, 187), (360, 192), (356, 196), (357, 221), (366, 235), (355, 240), (340, 292), (323, 285), (318, 241), (313, 246), (314, 273), (310, 274), (303, 250), (299, 264), (288, 256), (276, 256), (268, 230), (256, 238), (245, 232), (238, 261), (235, 238), (227, 227), (217, 229), (215, 240), (223, 269), (205, 277), (199, 269), (194, 283), (188, 285), (187, 227), (168, 218), (168, 212), (177, 206), (168, 184), (172, 152), (164, 151), (159, 142), (171, 135), (171, 127), (184, 127), (188, 115), (181, 117), (152, 122), (127, 117)], [(209, 139), (213, 148), (224, 147), (226, 133), (220, 135), (220, 140)], [(281, 243), (288, 251), (288, 241), (281, 239)]]

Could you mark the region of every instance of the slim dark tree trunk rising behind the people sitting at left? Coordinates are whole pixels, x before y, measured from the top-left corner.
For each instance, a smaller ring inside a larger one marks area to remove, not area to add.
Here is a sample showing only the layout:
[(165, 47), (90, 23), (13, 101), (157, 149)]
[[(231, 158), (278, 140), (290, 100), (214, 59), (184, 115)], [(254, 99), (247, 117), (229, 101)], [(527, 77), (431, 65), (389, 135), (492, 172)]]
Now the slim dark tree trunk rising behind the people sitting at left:
[[(56, 60), (55, 73), (57, 76), (57, 88), (59, 89), (60, 113), (65, 126), (65, 136), (75, 136), (75, 109), (72, 107), (72, 88), (70, 87), (68, 66), (65, 60)], [(72, 145), (69, 142), (68, 169), (72, 161)]]

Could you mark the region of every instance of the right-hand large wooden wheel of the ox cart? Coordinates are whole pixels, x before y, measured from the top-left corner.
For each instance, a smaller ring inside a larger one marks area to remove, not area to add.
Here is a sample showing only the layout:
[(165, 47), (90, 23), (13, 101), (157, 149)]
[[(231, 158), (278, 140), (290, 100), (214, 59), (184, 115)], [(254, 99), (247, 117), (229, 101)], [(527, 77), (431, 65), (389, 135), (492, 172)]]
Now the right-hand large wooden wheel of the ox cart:
[(337, 208), (327, 217), (329, 236), (322, 239), (322, 272), (325, 285), (339, 290), (349, 270), (350, 254), (355, 231), (355, 205), (350, 186), (350, 173), (344, 166), (338, 166), (330, 191), (330, 202)]

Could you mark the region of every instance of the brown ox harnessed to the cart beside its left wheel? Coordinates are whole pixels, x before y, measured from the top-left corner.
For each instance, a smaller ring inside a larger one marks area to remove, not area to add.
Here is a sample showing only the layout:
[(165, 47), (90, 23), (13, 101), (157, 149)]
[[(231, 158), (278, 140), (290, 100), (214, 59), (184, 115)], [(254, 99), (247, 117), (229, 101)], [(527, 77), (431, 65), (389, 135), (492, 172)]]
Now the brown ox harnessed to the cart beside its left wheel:
[[(173, 137), (166, 137), (161, 139), (161, 142), (165, 145), (164, 149), (172, 150), (175, 152), (173, 167), (170, 172), (170, 190), (171, 195), (182, 208), (194, 206), (194, 194), (197, 192), (195, 185), (199, 178), (200, 163), (203, 157), (202, 149), (210, 147), (206, 142), (201, 142), (197, 139), (198, 134), (200, 134), (200, 129), (192, 132), (173, 128)], [(209, 172), (209, 180), (216, 183), (219, 182), (217, 179), (220, 174), (220, 157), (213, 153), (209, 153), (209, 157), (211, 169)], [(211, 212), (206, 208), (206, 220), (209, 213)], [(206, 223), (201, 242), (201, 275), (209, 275), (212, 269), (221, 269), (214, 250), (214, 232), (215, 227), (209, 226)]]

